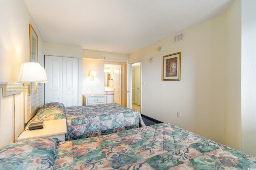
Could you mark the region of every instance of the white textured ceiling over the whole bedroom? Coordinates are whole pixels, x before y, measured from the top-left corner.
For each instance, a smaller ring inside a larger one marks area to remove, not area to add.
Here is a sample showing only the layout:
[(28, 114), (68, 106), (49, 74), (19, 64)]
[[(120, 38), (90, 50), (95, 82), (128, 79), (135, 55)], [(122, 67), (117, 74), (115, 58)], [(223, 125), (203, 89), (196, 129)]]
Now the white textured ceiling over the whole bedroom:
[(134, 53), (225, 12), (234, 0), (24, 0), (44, 41)]

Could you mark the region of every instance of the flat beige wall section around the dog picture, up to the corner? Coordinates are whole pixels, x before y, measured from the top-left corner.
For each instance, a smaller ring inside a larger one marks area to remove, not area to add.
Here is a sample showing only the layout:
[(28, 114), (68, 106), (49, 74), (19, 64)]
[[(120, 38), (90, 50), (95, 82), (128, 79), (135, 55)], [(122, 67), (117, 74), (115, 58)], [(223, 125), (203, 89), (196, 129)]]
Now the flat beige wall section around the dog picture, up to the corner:
[[(225, 143), (226, 14), (184, 35), (179, 43), (169, 37), (130, 55), (130, 63), (142, 61), (142, 114)], [(181, 80), (162, 81), (163, 56), (180, 51)]]

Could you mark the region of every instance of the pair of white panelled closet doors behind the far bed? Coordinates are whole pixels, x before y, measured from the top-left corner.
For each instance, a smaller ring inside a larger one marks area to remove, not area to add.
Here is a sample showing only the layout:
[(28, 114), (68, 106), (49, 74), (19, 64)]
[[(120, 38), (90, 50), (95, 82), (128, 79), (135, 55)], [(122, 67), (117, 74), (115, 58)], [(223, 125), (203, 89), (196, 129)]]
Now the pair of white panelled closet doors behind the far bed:
[(61, 102), (64, 106), (78, 106), (78, 59), (45, 56), (45, 103)]

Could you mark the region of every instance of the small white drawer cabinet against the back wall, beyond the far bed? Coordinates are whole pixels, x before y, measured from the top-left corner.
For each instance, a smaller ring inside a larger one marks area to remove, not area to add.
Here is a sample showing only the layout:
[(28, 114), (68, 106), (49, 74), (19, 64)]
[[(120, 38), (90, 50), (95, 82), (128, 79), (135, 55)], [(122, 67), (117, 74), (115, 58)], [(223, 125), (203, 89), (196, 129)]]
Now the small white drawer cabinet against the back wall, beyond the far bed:
[(106, 104), (106, 97), (104, 94), (84, 94), (83, 105)]

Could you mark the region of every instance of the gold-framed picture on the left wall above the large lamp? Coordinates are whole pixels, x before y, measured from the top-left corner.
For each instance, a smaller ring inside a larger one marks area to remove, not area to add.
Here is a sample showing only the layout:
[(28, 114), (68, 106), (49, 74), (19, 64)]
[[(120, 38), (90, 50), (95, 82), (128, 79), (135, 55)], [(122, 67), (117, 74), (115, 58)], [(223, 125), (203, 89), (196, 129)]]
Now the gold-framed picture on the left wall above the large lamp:
[(37, 63), (37, 46), (38, 36), (32, 25), (29, 24), (29, 62)]

